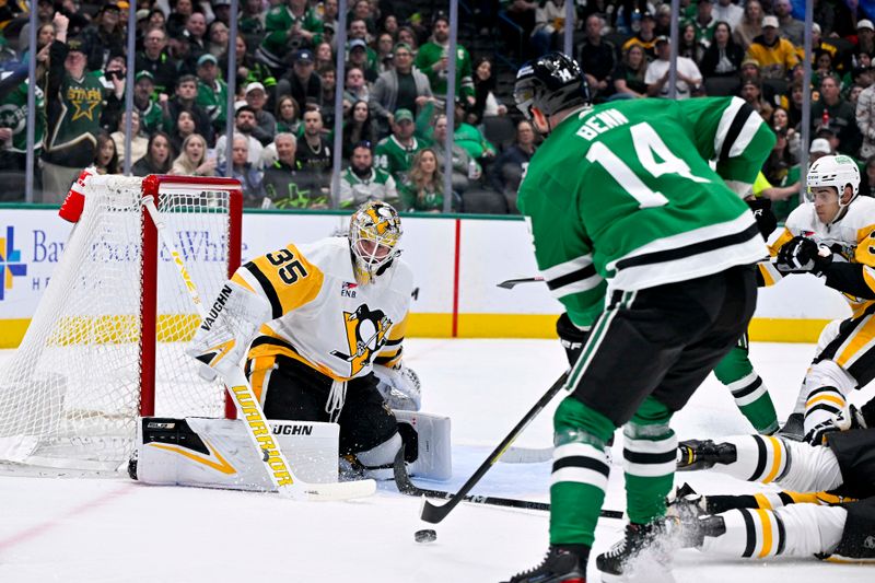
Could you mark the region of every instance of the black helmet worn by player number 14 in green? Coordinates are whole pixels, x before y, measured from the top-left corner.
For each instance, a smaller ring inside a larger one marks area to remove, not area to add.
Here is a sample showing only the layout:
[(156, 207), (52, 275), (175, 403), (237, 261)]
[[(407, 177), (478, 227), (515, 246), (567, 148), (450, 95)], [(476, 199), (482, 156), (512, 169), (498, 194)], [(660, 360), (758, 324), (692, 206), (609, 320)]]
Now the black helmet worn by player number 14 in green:
[(578, 61), (553, 51), (520, 69), (513, 98), (526, 119), (532, 119), (533, 107), (549, 117), (562, 109), (588, 105), (590, 86)]

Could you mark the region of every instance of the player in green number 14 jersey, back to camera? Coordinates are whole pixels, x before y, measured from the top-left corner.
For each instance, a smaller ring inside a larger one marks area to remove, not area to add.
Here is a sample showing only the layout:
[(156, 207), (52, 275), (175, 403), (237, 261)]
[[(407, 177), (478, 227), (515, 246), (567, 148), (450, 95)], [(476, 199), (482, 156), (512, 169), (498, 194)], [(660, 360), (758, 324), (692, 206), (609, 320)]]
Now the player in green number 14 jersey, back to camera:
[(596, 560), (620, 578), (642, 556), (668, 560), (669, 420), (754, 313), (751, 266), (768, 250), (742, 197), (774, 136), (736, 97), (592, 106), (580, 67), (560, 53), (523, 66), (514, 98), (547, 136), (520, 210), (547, 285), (586, 340), (553, 418), (550, 549), (511, 582), (584, 581), (605, 447), (622, 427), (630, 524)]

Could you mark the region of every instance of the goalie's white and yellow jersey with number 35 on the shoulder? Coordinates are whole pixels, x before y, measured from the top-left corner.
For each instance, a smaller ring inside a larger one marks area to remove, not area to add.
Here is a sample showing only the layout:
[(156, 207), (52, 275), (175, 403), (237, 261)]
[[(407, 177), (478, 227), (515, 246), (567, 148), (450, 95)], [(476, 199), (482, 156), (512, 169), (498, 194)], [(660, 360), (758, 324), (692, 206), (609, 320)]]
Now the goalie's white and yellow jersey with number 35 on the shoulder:
[(413, 275), (398, 257), (360, 285), (348, 240), (329, 237), (253, 259), (232, 280), (272, 308), (249, 359), (289, 357), (341, 382), (370, 373), (374, 362), (392, 366), (400, 359)]

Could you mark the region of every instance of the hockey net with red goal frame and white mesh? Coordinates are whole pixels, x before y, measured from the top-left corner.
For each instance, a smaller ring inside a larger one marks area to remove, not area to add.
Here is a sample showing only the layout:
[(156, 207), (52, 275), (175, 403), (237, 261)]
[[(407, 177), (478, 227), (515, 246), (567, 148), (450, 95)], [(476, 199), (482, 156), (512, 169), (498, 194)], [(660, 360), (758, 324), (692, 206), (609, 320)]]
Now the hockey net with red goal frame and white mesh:
[(240, 265), (242, 196), (225, 178), (93, 176), (14, 355), (0, 369), (0, 464), (112, 471), (138, 415), (223, 417), (224, 386), (184, 353), (200, 318), (142, 200), (203, 302)]

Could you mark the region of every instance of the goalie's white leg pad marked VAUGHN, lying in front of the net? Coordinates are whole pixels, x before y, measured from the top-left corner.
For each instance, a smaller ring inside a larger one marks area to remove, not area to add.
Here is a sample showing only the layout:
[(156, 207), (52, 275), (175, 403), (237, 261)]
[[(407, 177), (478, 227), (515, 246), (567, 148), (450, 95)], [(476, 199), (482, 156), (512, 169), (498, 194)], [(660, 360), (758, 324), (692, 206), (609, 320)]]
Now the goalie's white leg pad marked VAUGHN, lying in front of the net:
[[(337, 424), (270, 421), (270, 428), (300, 479), (337, 481)], [(141, 418), (137, 424), (136, 477), (156, 486), (275, 489), (243, 421), (232, 419)]]

